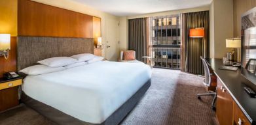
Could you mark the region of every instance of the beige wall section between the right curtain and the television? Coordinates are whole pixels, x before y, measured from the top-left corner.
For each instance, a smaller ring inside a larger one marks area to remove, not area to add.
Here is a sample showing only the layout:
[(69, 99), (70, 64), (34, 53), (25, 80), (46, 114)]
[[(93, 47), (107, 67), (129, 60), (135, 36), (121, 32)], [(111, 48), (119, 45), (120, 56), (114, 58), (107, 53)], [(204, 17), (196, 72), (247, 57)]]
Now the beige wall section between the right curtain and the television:
[(233, 1), (213, 0), (210, 8), (210, 34), (214, 35), (210, 36), (210, 55), (222, 59), (230, 51), (226, 38), (233, 38)]

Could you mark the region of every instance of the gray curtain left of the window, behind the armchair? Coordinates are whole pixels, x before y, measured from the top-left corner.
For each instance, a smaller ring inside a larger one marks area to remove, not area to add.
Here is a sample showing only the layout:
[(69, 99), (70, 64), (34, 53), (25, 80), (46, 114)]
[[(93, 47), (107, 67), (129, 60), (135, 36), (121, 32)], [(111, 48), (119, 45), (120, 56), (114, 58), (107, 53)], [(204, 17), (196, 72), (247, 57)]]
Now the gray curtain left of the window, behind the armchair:
[(128, 49), (136, 51), (136, 59), (148, 55), (149, 45), (149, 18), (128, 20)]

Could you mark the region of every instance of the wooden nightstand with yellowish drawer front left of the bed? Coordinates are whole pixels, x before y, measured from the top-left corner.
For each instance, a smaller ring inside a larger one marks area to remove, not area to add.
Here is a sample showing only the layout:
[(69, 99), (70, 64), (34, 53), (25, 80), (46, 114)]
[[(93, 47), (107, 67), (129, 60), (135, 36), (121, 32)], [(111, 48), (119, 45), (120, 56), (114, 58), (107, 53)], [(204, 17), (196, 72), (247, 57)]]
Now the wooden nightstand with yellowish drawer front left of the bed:
[(0, 111), (5, 111), (19, 104), (19, 85), (22, 85), (22, 77), (8, 80), (0, 78)]

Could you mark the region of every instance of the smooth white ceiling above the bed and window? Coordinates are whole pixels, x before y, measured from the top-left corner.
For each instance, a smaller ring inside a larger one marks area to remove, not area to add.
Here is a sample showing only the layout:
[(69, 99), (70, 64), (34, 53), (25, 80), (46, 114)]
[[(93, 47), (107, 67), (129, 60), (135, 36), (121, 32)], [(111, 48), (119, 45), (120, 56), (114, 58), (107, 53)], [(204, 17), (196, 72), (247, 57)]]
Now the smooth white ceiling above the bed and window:
[(115, 16), (180, 10), (210, 5), (212, 0), (72, 0)]

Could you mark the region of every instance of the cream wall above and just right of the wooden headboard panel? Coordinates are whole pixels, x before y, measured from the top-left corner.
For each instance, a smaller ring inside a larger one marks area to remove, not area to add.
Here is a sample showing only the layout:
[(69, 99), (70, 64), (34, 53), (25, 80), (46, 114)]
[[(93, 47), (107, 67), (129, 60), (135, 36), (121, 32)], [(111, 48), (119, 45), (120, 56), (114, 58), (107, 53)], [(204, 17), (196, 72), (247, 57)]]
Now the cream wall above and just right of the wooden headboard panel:
[[(73, 10), (75, 12), (81, 12), (82, 14), (88, 14), (90, 16), (96, 16), (101, 18), (101, 37), (102, 37), (102, 44), (104, 44), (104, 48), (105, 48), (105, 25), (109, 25), (106, 23), (105, 20), (107, 18), (111, 18), (113, 20), (119, 20), (118, 16), (113, 16), (111, 14), (101, 12), (100, 10), (96, 10), (86, 5), (82, 5), (81, 3), (77, 3), (75, 1), (70, 1), (70, 0), (31, 0), (31, 1), (44, 3), (46, 5), (52, 5), (54, 7), (65, 8), (67, 10)], [(119, 31), (119, 29), (116, 29), (116, 30)], [(101, 52), (102, 52), (102, 56), (105, 57), (105, 49), (103, 49)]]

